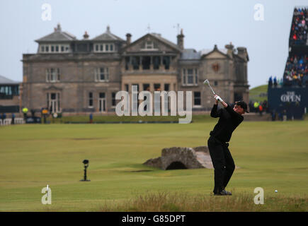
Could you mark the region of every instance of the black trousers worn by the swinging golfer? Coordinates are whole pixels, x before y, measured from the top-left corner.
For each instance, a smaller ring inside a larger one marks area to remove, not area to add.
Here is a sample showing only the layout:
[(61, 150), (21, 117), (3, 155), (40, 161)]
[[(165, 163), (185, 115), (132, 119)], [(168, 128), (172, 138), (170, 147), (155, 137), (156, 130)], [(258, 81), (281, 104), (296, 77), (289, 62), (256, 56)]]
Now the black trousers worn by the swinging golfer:
[(214, 166), (214, 190), (217, 194), (222, 191), (229, 183), (235, 169), (234, 160), (229, 151), (229, 143), (222, 143), (215, 137), (210, 136), (207, 141), (210, 150), (210, 156)]

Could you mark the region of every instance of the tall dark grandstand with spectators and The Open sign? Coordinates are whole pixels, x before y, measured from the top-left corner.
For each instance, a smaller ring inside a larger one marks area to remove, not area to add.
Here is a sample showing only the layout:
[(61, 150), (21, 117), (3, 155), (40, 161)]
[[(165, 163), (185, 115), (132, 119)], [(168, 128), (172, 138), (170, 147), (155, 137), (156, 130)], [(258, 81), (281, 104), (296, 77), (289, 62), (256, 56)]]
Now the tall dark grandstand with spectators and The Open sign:
[(308, 107), (308, 6), (295, 7), (283, 84), (268, 83), (270, 112), (302, 119)]

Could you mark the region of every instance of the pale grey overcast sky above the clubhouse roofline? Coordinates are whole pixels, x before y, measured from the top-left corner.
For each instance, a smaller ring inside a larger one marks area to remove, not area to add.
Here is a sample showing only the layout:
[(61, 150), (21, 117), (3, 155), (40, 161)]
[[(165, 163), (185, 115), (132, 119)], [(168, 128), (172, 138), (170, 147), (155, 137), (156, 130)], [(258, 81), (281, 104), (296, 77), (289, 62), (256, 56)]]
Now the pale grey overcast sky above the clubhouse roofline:
[[(51, 6), (51, 20), (42, 20), (43, 4)], [(264, 20), (254, 6), (262, 4)], [(0, 1), (0, 75), (22, 81), (22, 54), (35, 53), (40, 37), (62, 30), (82, 39), (105, 32), (132, 41), (147, 32), (160, 33), (176, 43), (177, 25), (183, 28), (184, 47), (219, 49), (232, 42), (249, 53), (248, 80), (251, 88), (266, 84), (269, 76), (282, 78), (288, 54), (288, 38), (295, 6), (307, 0), (12, 0)], [(257, 14), (256, 14), (257, 13)], [(260, 17), (258, 17), (260, 18)], [(148, 29), (150, 28), (150, 30)]]

